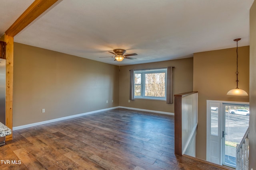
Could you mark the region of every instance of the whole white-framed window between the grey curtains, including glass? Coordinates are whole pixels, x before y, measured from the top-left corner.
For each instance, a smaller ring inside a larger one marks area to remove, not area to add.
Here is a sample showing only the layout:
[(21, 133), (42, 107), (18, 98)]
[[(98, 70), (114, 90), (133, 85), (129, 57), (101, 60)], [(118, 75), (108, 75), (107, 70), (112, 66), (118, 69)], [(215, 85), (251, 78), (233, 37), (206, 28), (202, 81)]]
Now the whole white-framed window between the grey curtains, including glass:
[(135, 98), (166, 100), (167, 68), (134, 70)]

